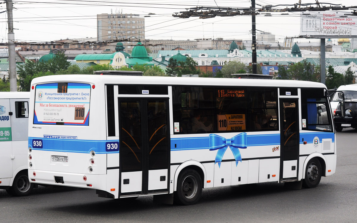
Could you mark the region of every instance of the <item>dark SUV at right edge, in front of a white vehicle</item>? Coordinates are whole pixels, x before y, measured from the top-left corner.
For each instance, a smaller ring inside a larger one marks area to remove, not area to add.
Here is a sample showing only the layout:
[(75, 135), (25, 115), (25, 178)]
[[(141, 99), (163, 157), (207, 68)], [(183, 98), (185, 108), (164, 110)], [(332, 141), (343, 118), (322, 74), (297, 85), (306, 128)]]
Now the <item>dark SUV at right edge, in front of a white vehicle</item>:
[(335, 111), (335, 129), (336, 131), (342, 131), (343, 128), (357, 128), (357, 99), (345, 99), (345, 113), (342, 116), (341, 102), (337, 105)]

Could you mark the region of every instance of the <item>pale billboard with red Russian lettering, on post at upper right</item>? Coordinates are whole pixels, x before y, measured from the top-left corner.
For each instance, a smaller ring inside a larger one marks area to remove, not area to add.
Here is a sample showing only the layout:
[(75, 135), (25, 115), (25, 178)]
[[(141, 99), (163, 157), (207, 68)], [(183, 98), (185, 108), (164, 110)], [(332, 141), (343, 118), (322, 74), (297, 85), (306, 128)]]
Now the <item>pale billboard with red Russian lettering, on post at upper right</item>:
[(340, 11), (306, 11), (301, 13), (300, 35), (308, 37), (357, 36), (357, 16)]

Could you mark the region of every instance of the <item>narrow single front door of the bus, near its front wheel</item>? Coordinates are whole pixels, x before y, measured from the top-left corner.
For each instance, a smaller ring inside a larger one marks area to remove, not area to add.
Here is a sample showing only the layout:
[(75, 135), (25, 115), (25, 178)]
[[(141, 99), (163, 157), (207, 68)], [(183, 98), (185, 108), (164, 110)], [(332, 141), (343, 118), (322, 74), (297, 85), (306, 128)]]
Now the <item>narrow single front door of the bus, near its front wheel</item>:
[(295, 181), (299, 159), (298, 99), (280, 99), (280, 181)]

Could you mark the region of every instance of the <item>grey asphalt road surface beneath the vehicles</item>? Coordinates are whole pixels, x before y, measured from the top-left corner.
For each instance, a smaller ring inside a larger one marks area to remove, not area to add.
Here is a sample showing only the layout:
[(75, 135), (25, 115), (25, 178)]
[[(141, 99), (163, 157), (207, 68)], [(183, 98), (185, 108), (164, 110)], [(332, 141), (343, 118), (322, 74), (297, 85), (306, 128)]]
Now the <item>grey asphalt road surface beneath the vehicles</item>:
[(193, 206), (99, 198), (94, 190), (39, 187), (27, 197), (0, 190), (0, 222), (357, 222), (357, 130), (337, 133), (337, 169), (316, 188), (282, 183), (204, 189)]

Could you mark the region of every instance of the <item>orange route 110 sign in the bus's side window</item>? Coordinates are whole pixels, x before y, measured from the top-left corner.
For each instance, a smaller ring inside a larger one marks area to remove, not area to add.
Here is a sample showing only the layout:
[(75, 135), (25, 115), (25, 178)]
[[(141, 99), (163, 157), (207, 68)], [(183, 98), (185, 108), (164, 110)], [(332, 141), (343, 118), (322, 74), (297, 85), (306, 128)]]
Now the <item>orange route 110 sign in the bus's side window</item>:
[(217, 115), (218, 131), (246, 130), (245, 114)]

